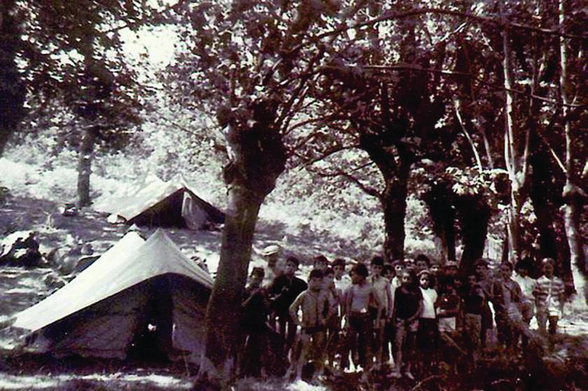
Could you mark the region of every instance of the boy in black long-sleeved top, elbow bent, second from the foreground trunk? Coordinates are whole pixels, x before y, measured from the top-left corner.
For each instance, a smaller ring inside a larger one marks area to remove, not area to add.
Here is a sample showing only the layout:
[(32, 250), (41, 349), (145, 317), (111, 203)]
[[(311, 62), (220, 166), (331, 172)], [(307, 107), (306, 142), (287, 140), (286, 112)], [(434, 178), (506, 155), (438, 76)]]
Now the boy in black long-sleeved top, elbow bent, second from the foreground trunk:
[(278, 317), (278, 331), (285, 339), (285, 353), (292, 348), (296, 337), (296, 325), (290, 317), (289, 307), (296, 300), (296, 297), (308, 288), (306, 282), (294, 275), (298, 270), (298, 265), (299, 260), (297, 258), (288, 257), (284, 272), (275, 277), (268, 289), (271, 308)]

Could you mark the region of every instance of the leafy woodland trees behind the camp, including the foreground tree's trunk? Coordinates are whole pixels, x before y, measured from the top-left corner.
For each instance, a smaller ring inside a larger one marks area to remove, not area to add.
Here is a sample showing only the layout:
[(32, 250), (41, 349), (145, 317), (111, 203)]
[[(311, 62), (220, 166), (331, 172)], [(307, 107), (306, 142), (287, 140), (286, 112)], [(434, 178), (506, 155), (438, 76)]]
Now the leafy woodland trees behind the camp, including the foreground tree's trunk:
[[(231, 370), (254, 227), (280, 180), (285, 203), (377, 210), (382, 223), (361, 235), (387, 260), (404, 258), (420, 202), (415, 231), (432, 231), (440, 260), (465, 271), (488, 254), (552, 257), (573, 290), (588, 232), (587, 10), (584, 0), (4, 0), (0, 153), (23, 142), (45, 146), (48, 162), (76, 153), (80, 207), (96, 157), (224, 165), (210, 367)], [(123, 33), (150, 29), (175, 37), (162, 43), (175, 45), (164, 68), (124, 52)]]

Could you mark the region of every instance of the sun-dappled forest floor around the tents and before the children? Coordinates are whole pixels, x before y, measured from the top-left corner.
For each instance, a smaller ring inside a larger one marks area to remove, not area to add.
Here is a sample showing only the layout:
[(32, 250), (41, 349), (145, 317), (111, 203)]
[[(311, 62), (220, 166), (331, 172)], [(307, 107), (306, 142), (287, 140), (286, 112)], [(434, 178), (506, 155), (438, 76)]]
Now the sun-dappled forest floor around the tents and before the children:
[[(59, 216), (57, 209), (62, 202), (31, 195), (24, 185), (11, 186), (10, 196), (0, 204), (0, 238), (15, 230), (34, 230), (41, 253), (91, 243), (94, 253), (99, 255), (128, 229), (110, 225), (105, 216), (91, 209), (83, 209), (78, 216)], [(145, 236), (151, 233), (152, 230), (143, 230)], [(206, 258), (214, 273), (220, 251), (220, 232), (166, 229), (166, 233), (187, 256)], [(322, 237), (292, 235), (280, 223), (260, 221), (254, 246), (259, 249), (268, 243), (280, 244), (287, 254), (296, 254), (302, 260), (310, 260), (317, 253), (329, 253), (328, 242)], [(259, 256), (253, 261), (261, 264)], [(306, 263), (301, 267), (303, 276), (310, 269), (308, 261)], [(71, 279), (73, 274), (60, 274), (57, 266), (0, 267), (0, 323), (50, 295), (55, 286), (47, 281)], [(281, 378), (243, 379), (235, 390), (588, 390), (588, 313), (585, 306), (571, 306), (566, 313), (553, 346), (537, 339), (535, 348), (515, 356), (492, 348), (477, 369), (471, 367), (467, 357), (449, 347), (444, 355), (448, 358), (440, 362), (438, 374), (426, 381), (394, 381), (387, 376), (389, 370), (382, 369), (368, 382), (360, 381), (359, 374), (355, 373), (328, 376), (320, 385), (285, 382)], [(185, 363), (12, 357), (14, 341), (5, 337), (0, 336), (0, 390), (194, 389), (196, 368)]]

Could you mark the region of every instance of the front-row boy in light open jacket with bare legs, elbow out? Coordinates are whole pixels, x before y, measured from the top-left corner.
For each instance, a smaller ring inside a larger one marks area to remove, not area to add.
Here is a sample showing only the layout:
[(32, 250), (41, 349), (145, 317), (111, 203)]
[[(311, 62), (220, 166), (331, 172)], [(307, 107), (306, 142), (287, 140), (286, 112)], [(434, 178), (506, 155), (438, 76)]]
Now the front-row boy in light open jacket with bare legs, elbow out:
[[(308, 357), (315, 359), (316, 370), (313, 379), (322, 375), (324, 369), (324, 338), (327, 319), (331, 316), (331, 307), (327, 297), (327, 290), (323, 289), (324, 275), (321, 270), (315, 269), (308, 276), (308, 289), (304, 290), (289, 307), (292, 321), (300, 326), (301, 353), (293, 369), (296, 380), (302, 378), (302, 369)], [(327, 308), (327, 316), (324, 309)], [(298, 310), (302, 311), (302, 318), (298, 316)], [(294, 364), (294, 360), (292, 360)]]

